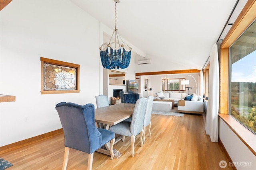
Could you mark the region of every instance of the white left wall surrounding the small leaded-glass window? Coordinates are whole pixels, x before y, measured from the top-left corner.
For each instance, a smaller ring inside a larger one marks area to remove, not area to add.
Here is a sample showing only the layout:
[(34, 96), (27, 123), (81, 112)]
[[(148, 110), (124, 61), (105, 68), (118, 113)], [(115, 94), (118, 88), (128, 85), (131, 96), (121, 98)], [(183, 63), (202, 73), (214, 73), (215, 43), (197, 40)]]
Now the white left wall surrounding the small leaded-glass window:
[[(99, 22), (70, 1), (12, 1), (1, 11), (0, 146), (60, 129), (59, 102), (96, 104)], [(40, 57), (80, 64), (80, 93), (40, 94)], [(25, 121), (28, 117), (28, 121)]]

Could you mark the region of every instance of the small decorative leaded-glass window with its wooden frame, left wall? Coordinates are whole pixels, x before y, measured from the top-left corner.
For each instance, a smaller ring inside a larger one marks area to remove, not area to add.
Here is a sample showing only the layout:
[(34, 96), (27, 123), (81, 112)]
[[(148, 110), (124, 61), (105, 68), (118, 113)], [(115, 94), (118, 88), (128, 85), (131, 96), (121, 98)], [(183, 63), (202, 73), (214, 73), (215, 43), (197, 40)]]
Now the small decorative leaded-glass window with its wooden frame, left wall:
[(80, 65), (41, 57), (41, 94), (79, 92)]

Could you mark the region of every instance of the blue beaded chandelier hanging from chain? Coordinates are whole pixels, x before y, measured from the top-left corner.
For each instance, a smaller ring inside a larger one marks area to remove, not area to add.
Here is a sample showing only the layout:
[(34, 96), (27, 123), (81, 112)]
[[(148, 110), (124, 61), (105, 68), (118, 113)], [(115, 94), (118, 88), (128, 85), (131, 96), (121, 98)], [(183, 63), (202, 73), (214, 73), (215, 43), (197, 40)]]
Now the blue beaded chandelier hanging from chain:
[[(114, 2), (119, 3), (119, 0), (114, 0)], [(125, 44), (121, 39), (118, 30), (116, 29), (116, 3), (115, 3), (115, 29), (109, 40), (109, 43), (103, 43), (100, 46), (100, 59), (102, 66), (107, 69), (124, 69), (130, 64), (131, 50), (132, 48)], [(110, 42), (113, 35), (115, 35), (115, 41)], [(119, 37), (119, 38), (118, 38)], [(119, 39), (122, 43), (119, 42)]]

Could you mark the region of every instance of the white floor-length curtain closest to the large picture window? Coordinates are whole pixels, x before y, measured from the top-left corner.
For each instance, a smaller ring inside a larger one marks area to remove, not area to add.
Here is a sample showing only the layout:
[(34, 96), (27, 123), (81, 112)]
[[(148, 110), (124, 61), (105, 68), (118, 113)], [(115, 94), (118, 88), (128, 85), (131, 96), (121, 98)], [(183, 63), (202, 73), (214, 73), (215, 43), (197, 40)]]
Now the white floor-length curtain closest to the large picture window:
[(209, 94), (207, 103), (206, 134), (210, 135), (211, 142), (218, 142), (218, 111), (220, 98), (220, 75), (218, 61), (218, 47), (215, 43), (210, 53), (209, 67)]

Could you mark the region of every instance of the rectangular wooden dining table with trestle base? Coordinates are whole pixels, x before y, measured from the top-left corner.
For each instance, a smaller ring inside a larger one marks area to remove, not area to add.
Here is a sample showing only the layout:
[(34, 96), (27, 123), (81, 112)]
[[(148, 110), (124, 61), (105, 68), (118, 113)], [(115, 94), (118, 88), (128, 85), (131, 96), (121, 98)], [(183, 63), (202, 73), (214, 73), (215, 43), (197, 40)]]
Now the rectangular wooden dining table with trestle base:
[[(129, 117), (132, 117), (132, 113), (134, 110), (135, 104), (121, 103), (114, 104), (106, 107), (100, 107), (95, 109), (95, 121), (96, 123), (104, 124), (105, 129), (109, 129), (111, 125), (116, 125)], [(122, 136), (116, 139), (116, 142), (120, 141)], [(115, 142), (115, 143), (116, 143)], [(104, 147), (98, 149), (98, 152), (108, 154), (109, 152), (110, 142), (108, 142)], [(122, 156), (122, 153), (116, 149), (114, 151), (114, 158), (118, 159)]]

